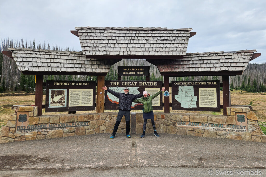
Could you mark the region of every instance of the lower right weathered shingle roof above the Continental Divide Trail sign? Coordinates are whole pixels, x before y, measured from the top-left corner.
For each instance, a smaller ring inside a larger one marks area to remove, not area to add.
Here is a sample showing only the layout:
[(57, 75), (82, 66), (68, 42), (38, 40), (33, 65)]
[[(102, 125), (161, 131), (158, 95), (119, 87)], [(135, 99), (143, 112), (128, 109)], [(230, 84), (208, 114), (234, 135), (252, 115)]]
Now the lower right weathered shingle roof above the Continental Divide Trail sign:
[(182, 59), (148, 60), (160, 72), (244, 71), (256, 50), (188, 53)]

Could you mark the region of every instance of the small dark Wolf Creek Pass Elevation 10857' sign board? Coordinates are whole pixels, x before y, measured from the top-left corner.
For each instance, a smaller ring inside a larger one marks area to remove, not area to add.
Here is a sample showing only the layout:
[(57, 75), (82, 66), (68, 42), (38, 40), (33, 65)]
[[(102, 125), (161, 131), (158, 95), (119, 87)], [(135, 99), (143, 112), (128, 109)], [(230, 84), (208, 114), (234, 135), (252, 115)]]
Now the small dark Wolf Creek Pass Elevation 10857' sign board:
[(118, 76), (149, 76), (149, 66), (118, 66)]

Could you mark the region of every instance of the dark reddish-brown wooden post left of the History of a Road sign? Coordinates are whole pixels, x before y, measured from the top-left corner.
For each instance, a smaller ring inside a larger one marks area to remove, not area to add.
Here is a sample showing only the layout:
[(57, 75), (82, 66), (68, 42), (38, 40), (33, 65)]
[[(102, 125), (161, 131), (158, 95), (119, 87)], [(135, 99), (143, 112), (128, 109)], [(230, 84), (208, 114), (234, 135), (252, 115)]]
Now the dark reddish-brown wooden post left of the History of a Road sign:
[(38, 106), (38, 116), (40, 116), (43, 107), (43, 75), (36, 75), (35, 90), (35, 106)]

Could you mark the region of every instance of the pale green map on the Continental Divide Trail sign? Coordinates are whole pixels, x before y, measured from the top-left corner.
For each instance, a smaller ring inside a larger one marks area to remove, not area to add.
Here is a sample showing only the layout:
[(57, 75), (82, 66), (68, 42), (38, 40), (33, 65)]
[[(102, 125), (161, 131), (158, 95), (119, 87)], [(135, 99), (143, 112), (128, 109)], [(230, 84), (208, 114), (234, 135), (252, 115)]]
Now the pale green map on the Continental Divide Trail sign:
[(197, 96), (194, 96), (193, 86), (179, 86), (178, 95), (174, 95), (174, 98), (181, 103), (181, 107), (192, 108), (197, 107)]

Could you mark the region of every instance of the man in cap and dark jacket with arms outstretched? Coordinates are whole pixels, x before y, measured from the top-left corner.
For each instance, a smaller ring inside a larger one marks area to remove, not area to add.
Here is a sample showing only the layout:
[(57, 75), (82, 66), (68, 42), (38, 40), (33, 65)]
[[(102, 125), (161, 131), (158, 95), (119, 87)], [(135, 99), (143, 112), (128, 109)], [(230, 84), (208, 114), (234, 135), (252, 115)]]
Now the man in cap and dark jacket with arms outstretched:
[(119, 112), (117, 115), (117, 122), (115, 123), (114, 131), (113, 131), (110, 139), (114, 139), (123, 115), (125, 115), (125, 119), (126, 119), (126, 135), (128, 138), (130, 138), (129, 120), (130, 120), (131, 104), (132, 104), (132, 101), (135, 100), (136, 98), (142, 97), (142, 94), (138, 94), (138, 95), (130, 94), (130, 93), (128, 93), (129, 92), (128, 87), (124, 88), (123, 93), (118, 93), (118, 92), (115, 92), (113, 90), (107, 89), (106, 86), (102, 87), (102, 89), (107, 90), (107, 92), (113, 94), (115, 97), (117, 97), (119, 99)]

